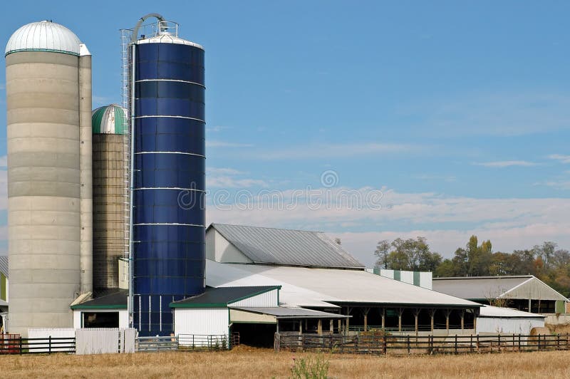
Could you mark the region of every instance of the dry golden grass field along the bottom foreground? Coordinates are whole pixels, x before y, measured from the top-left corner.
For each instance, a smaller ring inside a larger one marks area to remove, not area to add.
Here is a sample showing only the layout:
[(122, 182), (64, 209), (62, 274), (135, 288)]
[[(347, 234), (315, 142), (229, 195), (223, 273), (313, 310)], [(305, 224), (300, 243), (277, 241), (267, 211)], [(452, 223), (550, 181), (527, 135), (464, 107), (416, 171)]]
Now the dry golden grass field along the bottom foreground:
[[(287, 378), (293, 357), (237, 348), (219, 353), (0, 355), (1, 378)], [(434, 356), (325, 355), (330, 378), (570, 378), (568, 351)]]

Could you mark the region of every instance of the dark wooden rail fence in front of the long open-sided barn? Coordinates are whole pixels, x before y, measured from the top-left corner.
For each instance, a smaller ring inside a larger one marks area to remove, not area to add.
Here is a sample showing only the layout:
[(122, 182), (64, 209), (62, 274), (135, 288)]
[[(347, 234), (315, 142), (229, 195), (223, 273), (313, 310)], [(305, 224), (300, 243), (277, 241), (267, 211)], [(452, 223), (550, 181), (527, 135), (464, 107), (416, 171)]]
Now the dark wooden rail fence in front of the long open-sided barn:
[(350, 354), (460, 354), (503, 351), (570, 350), (570, 335), (522, 334), (496, 336), (389, 336), (380, 333), (299, 334), (275, 333), (275, 351), (329, 351)]

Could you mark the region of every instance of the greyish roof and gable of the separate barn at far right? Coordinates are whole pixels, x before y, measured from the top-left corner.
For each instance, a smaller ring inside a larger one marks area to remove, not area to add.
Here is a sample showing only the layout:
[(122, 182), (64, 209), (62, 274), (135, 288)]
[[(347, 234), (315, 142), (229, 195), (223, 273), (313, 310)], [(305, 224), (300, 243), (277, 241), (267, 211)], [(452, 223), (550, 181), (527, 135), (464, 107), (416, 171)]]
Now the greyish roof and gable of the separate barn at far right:
[(532, 298), (568, 301), (567, 298), (532, 275), (434, 278), (432, 286), (434, 291), (470, 300)]

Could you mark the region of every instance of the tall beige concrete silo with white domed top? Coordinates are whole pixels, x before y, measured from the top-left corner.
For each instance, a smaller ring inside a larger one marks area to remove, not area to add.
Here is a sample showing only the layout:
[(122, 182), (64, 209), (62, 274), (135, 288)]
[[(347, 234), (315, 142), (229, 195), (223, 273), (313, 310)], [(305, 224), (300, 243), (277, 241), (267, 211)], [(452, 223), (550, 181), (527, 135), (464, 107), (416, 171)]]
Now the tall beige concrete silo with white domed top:
[(91, 57), (40, 21), (6, 45), (11, 333), (71, 327), (92, 289)]

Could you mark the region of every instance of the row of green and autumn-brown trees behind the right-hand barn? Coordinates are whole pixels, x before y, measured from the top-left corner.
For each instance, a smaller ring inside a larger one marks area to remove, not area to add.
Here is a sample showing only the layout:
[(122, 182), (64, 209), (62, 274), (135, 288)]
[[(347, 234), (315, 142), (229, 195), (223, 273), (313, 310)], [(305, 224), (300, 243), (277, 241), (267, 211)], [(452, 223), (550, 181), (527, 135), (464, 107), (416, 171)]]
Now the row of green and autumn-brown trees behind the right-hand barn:
[(491, 241), (479, 244), (471, 236), (465, 247), (444, 259), (431, 251), (427, 239), (397, 238), (378, 242), (374, 255), (380, 269), (432, 271), (433, 276), (496, 276), (531, 274), (564, 296), (570, 296), (570, 253), (555, 242), (543, 242), (531, 249), (510, 253), (492, 251)]

